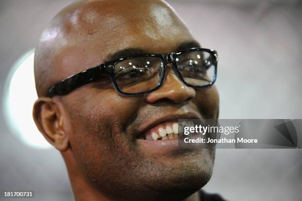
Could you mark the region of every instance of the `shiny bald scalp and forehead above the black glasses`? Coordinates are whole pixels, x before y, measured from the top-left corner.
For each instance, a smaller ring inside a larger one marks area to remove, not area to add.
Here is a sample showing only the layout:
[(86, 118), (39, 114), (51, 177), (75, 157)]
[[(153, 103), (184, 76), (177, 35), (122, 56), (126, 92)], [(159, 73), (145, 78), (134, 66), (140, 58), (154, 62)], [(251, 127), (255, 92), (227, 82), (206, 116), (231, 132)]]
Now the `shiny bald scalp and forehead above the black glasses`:
[[(122, 6), (121, 6), (122, 4)], [(161, 40), (172, 41), (171, 46)], [(191, 40), (174, 10), (161, 0), (82, 0), (61, 10), (42, 33), (35, 52), (38, 96), (56, 82), (104, 62), (116, 51), (150, 53)]]

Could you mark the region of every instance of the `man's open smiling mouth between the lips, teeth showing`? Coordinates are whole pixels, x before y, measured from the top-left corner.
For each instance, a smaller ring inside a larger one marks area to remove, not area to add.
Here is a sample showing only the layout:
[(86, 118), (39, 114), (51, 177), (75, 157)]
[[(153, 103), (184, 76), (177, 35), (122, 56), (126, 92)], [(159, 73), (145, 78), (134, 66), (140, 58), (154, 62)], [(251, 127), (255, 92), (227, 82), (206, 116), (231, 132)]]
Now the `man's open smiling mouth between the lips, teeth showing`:
[(163, 122), (139, 136), (142, 140), (173, 140), (179, 138), (178, 122)]

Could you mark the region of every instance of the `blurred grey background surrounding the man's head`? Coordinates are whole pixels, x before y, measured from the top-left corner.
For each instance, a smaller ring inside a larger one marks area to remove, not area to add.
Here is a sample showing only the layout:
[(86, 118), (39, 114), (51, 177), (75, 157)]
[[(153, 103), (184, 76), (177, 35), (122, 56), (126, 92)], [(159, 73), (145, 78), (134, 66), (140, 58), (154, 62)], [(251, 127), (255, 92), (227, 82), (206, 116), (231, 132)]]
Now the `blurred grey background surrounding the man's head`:
[[(71, 2), (0, 0), (1, 103), (13, 64)], [(300, 0), (169, 2), (202, 46), (218, 51), (221, 119), (302, 119)], [(35, 201), (72, 200), (59, 152), (24, 144), (4, 120), (6, 106), (0, 106), (0, 191), (34, 190)], [(302, 201), (301, 158), (301, 150), (217, 150), (204, 189), (230, 201)]]

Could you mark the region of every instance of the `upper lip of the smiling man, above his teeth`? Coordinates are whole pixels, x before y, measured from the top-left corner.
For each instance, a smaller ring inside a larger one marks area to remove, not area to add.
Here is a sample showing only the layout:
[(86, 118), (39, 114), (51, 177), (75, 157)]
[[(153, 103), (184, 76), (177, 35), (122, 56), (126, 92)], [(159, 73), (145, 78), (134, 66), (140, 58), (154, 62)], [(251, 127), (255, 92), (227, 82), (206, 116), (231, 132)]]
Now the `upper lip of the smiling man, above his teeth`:
[(175, 114), (169, 114), (162, 116), (160, 118), (157, 118), (153, 121), (149, 121), (146, 123), (143, 123), (141, 126), (138, 128), (138, 132), (136, 136), (144, 134), (146, 131), (150, 130), (154, 126), (163, 123), (163, 122), (168, 122), (168, 121), (178, 121), (180, 119), (199, 119), (201, 120), (201, 116), (198, 113), (194, 112), (188, 112), (188, 113), (175, 113)]

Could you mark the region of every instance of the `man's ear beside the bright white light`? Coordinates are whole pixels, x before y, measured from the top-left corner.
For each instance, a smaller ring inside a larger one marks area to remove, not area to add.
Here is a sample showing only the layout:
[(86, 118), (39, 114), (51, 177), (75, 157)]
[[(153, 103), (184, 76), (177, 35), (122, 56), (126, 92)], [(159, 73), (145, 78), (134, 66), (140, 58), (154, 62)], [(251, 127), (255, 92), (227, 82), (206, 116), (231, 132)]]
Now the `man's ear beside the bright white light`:
[(59, 151), (69, 148), (62, 113), (51, 98), (38, 98), (34, 104), (33, 117), (39, 131), (50, 144)]

